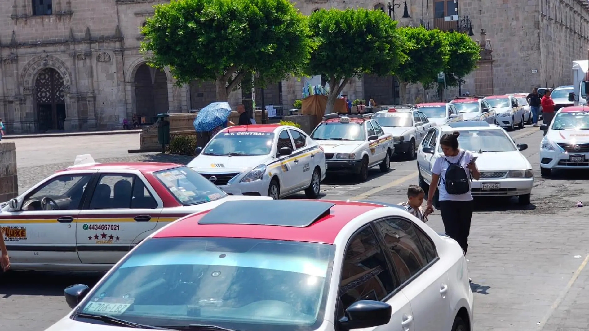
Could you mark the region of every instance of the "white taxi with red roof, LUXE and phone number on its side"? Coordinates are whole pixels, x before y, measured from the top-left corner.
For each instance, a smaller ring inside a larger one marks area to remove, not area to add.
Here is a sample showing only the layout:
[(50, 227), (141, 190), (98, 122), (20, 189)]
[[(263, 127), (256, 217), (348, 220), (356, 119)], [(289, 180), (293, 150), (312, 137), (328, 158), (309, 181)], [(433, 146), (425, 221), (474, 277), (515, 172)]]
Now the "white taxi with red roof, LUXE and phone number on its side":
[(180, 164), (80, 155), (0, 205), (0, 226), (11, 270), (104, 271), (154, 230), (240, 198), (256, 199), (229, 197)]

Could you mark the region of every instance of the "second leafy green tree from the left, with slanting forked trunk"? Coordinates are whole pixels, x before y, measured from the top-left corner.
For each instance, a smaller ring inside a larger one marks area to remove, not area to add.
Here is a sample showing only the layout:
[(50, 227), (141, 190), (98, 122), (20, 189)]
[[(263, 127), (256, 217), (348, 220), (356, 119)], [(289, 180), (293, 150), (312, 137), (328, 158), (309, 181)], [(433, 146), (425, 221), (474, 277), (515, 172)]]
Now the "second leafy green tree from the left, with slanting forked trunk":
[(306, 73), (329, 83), (326, 113), (350, 78), (388, 75), (404, 59), (396, 22), (382, 11), (320, 9), (309, 17), (309, 27), (316, 49)]

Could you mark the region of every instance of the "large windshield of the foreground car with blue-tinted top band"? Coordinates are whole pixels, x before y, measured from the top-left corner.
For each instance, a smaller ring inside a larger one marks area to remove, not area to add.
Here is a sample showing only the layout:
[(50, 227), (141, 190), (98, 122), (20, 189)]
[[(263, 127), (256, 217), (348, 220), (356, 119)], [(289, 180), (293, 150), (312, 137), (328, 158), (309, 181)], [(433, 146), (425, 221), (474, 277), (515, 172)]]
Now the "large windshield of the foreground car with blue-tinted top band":
[(148, 239), (76, 312), (168, 328), (310, 331), (324, 319), (333, 251), (284, 240)]

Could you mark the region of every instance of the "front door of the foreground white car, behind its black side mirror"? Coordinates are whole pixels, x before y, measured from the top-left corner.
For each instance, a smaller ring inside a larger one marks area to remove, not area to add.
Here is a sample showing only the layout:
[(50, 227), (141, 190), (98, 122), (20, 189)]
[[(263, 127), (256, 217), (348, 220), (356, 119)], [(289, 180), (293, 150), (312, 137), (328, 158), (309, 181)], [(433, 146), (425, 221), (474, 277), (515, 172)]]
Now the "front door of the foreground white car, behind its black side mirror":
[[(399, 283), (392, 273), (385, 250), (375, 235), (372, 226), (356, 231), (343, 253), (339, 291), (336, 308), (337, 320), (345, 316), (345, 309), (358, 300), (378, 300), (391, 305), (391, 320), (386, 325), (373, 328), (375, 331), (414, 331), (411, 304), (399, 290)], [(336, 270), (339, 266), (336, 267)]]

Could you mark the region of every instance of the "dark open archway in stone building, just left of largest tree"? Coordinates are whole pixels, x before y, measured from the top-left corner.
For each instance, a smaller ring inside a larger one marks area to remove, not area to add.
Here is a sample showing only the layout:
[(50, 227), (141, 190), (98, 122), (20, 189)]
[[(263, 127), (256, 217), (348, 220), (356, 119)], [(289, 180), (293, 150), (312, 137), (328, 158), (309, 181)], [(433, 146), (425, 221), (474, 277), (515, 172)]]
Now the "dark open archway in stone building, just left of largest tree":
[(154, 123), (155, 115), (168, 112), (168, 78), (166, 72), (147, 64), (135, 72), (135, 112), (145, 118), (141, 124)]

